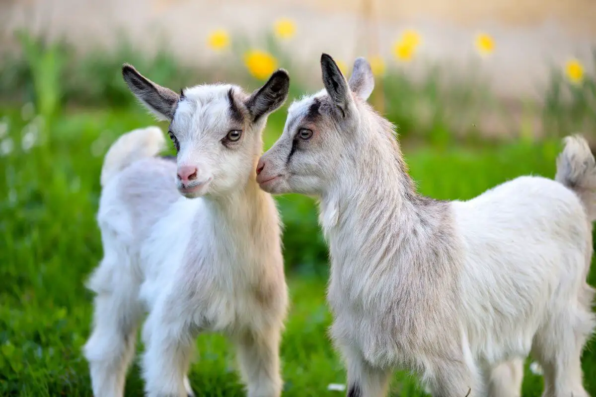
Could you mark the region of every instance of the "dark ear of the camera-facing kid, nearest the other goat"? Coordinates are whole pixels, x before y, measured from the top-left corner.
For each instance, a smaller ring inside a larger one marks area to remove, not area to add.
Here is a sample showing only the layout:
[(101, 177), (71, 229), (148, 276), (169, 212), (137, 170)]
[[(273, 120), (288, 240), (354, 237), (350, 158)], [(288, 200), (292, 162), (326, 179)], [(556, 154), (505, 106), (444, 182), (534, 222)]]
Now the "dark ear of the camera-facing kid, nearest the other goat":
[(283, 69), (274, 71), (265, 85), (254, 91), (246, 100), (246, 107), (253, 116), (253, 121), (283, 105), (288, 97), (288, 89), (290, 89), (288, 72)]

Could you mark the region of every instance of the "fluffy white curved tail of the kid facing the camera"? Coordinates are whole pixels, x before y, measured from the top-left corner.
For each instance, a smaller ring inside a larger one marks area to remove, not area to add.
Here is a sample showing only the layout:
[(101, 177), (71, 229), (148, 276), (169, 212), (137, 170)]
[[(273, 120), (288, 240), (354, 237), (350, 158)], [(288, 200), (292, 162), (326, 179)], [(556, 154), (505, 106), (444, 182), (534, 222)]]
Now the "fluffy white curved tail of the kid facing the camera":
[(120, 136), (105, 154), (101, 167), (101, 186), (117, 173), (142, 158), (154, 157), (166, 146), (162, 130), (151, 126), (139, 128)]

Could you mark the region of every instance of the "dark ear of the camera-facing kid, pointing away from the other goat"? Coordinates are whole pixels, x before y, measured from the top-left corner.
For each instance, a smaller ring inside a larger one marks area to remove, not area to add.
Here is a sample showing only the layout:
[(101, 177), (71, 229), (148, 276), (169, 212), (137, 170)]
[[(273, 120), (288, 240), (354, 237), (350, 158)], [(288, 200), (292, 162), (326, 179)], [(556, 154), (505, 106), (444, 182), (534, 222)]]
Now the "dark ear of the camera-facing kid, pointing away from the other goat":
[(180, 100), (177, 93), (142, 76), (134, 66), (129, 64), (122, 66), (122, 77), (131, 92), (150, 111), (156, 114), (157, 117), (172, 121)]

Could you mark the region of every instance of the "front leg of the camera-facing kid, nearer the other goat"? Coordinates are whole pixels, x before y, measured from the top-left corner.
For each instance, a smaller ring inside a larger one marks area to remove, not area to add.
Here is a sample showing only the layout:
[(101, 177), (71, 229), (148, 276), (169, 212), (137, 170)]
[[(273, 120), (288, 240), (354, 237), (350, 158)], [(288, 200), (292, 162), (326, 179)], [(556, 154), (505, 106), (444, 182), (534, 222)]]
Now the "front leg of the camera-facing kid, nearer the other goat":
[(238, 336), (238, 364), (249, 397), (281, 395), (280, 336), (281, 323)]

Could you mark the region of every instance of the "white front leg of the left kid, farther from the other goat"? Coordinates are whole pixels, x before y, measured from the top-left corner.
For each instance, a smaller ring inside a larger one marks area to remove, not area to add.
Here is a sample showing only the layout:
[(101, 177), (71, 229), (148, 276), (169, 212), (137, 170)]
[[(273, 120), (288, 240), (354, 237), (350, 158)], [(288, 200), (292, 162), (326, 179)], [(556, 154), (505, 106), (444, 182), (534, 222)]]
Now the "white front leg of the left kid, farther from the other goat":
[[(172, 302), (171, 299), (167, 301)], [(148, 397), (192, 396), (188, 378), (194, 338), (191, 315), (176, 308), (185, 305), (156, 304), (143, 329), (145, 354), (142, 368)], [(179, 301), (178, 301), (179, 302)]]

